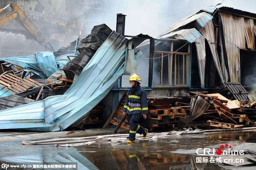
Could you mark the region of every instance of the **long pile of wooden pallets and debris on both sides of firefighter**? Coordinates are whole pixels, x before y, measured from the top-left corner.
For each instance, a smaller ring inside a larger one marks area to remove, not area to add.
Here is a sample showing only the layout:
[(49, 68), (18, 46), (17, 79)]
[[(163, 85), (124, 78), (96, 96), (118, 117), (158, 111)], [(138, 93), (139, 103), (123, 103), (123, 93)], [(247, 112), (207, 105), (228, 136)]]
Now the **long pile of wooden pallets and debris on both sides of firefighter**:
[[(218, 93), (190, 92), (184, 95), (186, 97), (148, 96), (148, 117), (141, 118), (140, 125), (151, 131), (186, 127), (234, 129), (256, 126), (256, 101), (253, 95), (248, 96), (246, 103), (229, 100)], [(114, 132), (119, 127), (129, 130), (130, 126), (122, 113), (126, 96), (124, 93), (104, 127), (112, 123), (117, 125)]]

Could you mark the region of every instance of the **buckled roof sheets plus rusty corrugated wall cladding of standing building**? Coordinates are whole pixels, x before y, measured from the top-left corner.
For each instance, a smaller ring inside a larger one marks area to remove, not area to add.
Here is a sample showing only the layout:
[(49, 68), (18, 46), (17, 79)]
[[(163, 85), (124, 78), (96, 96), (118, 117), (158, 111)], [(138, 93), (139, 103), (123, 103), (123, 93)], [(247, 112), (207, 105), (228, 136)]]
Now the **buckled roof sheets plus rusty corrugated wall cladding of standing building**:
[[(216, 35), (212, 21), (213, 16), (206, 12), (219, 13), (215, 17), (219, 20), (219, 23), (216, 24), (219, 24), (219, 31), (217, 33), (220, 53), (217, 51)], [(156, 39), (175, 38), (185, 39), (189, 43), (195, 42), (202, 88), (204, 88), (206, 60), (205, 40), (210, 47), (214, 65), (222, 83), (240, 82), (240, 49), (255, 50), (254, 34), (256, 35), (256, 23), (254, 23), (254, 19), (256, 19), (256, 14), (250, 12), (228, 7), (221, 7), (216, 11), (216, 6), (210, 6), (177, 21), (159, 33)], [(148, 44), (149, 41), (144, 41), (138, 47)]]

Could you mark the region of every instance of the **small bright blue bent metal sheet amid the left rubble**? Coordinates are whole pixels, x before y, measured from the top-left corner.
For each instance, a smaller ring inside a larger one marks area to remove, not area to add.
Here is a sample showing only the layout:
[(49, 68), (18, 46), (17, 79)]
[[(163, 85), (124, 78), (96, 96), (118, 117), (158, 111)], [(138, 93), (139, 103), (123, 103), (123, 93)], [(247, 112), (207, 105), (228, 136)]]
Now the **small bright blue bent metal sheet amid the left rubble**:
[(46, 77), (49, 77), (58, 70), (55, 57), (50, 52), (36, 52), (36, 59), (40, 70)]

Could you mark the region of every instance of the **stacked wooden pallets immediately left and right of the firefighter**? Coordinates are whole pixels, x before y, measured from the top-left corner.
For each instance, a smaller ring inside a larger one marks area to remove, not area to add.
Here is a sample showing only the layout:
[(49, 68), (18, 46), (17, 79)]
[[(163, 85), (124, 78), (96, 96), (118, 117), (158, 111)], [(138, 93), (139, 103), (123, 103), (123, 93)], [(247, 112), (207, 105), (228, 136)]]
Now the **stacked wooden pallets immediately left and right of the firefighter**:
[[(123, 108), (126, 101), (127, 93), (124, 93), (118, 105), (110, 115), (108, 121), (104, 125), (104, 128), (109, 123), (117, 125), (114, 132), (120, 127), (129, 130), (130, 126), (127, 123), (126, 117), (123, 115)], [(186, 117), (186, 109), (189, 106), (172, 107), (172, 103), (182, 102), (184, 98), (177, 97), (159, 97), (159, 96), (148, 96), (148, 118), (140, 119), (140, 125), (150, 129), (164, 129), (172, 128), (176, 123), (180, 121), (180, 117)]]

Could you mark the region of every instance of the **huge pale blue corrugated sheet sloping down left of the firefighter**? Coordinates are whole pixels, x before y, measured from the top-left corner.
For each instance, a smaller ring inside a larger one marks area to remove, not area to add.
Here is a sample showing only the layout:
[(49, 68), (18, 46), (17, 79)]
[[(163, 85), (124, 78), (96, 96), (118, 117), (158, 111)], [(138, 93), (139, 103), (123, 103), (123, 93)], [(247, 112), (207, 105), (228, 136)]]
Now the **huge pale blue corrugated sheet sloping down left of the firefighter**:
[(65, 94), (0, 111), (0, 128), (57, 131), (83, 119), (123, 75), (127, 45), (113, 31)]

